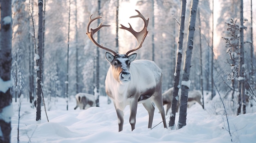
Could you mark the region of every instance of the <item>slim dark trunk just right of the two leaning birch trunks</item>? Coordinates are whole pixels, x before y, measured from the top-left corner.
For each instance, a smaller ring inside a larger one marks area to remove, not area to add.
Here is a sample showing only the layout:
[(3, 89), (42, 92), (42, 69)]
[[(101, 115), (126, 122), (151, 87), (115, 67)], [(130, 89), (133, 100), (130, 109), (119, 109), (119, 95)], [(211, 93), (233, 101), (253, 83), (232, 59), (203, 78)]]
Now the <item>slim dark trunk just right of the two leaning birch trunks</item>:
[(201, 19), (200, 19), (200, 9), (198, 9), (198, 20), (199, 20), (199, 40), (200, 40), (200, 89), (202, 92), (202, 107), (204, 109), (204, 86), (203, 86), (203, 64), (202, 64), (202, 40), (201, 40)]

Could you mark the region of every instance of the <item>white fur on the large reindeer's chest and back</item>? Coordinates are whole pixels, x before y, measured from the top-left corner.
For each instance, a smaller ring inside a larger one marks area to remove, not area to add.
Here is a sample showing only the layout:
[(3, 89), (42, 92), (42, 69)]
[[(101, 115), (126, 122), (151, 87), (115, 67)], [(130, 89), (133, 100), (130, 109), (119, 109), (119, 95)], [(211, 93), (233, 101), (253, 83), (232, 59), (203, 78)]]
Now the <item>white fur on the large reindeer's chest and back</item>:
[[(112, 76), (112, 66), (110, 66), (106, 76), (106, 90), (112, 92), (112, 99), (120, 110), (124, 110), (126, 105), (130, 104), (127, 100), (127, 90), (136, 88), (138, 92), (144, 92), (148, 88), (156, 86), (157, 81), (161, 80), (161, 70), (157, 68), (154, 62), (148, 60), (135, 60), (130, 64), (131, 80), (126, 84), (120, 84)], [(146, 78), (147, 77), (147, 78)]]

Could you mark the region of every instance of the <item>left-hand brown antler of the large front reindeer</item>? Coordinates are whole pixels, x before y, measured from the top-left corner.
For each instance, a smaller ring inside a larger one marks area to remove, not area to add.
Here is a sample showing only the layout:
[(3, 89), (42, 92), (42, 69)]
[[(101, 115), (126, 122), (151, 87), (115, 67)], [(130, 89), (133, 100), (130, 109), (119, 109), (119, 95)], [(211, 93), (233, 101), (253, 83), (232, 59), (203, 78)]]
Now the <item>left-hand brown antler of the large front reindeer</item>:
[(94, 21), (94, 20), (97, 20), (99, 18), (102, 18), (100, 15), (96, 16), (95, 18), (92, 18), (92, 15), (90, 16), (89, 18), (89, 22), (88, 22), (88, 25), (87, 25), (87, 32), (86, 34), (88, 35), (89, 39), (96, 45), (98, 46), (99, 48), (103, 48), (104, 50), (107, 50), (107, 51), (110, 51), (112, 52), (114, 55), (117, 55), (117, 52), (112, 50), (111, 48), (108, 48), (108, 47), (105, 47), (103, 46), (102, 44), (99, 44), (98, 42), (96, 42), (93, 38), (93, 35), (94, 33), (96, 33), (97, 31), (99, 31), (99, 29), (101, 29), (102, 27), (105, 27), (105, 26), (110, 26), (110, 25), (106, 25), (106, 24), (99, 24), (99, 26), (95, 29), (90, 29), (89, 31), (89, 28), (90, 28), (90, 24)]

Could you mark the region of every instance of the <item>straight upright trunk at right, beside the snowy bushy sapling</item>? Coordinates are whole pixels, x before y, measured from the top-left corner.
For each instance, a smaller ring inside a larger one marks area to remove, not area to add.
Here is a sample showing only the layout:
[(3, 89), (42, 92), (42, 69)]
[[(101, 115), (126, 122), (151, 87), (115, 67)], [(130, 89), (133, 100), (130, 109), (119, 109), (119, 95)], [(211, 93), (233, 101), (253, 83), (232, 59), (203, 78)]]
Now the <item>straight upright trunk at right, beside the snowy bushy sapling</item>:
[(243, 20), (243, 0), (240, 0), (240, 54), (239, 54), (239, 67), (238, 67), (238, 110), (237, 115), (241, 113), (241, 100), (242, 110), (245, 114), (245, 59), (244, 59), (244, 20)]

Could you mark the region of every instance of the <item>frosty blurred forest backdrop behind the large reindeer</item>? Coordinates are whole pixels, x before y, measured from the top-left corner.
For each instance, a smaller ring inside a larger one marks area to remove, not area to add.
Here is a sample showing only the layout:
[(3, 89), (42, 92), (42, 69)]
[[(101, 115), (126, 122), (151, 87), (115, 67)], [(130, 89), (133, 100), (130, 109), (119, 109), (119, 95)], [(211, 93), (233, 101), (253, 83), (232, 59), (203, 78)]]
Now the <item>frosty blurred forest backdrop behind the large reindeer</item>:
[[(98, 6), (99, 1), (100, 5)], [(12, 4), (12, 77), (14, 80), (12, 95), (18, 98), (23, 94), (24, 97), (30, 99), (31, 103), (36, 97), (34, 34), (37, 35), (36, 29), (38, 26), (37, 2), (33, 0), (13, 0)], [(200, 17), (196, 19), (190, 90), (200, 90), (200, 80), (202, 78), (203, 89), (211, 91), (213, 87), (211, 86), (211, 76), (213, 76), (218, 90), (225, 95), (232, 92), (230, 87), (232, 83), (238, 80), (238, 75), (234, 72), (237, 67), (230, 61), (233, 60), (231, 55), (234, 52), (229, 52), (225, 39), (232, 38), (227, 34), (228, 24), (239, 25), (239, 2), (239, 0), (214, 0), (214, 8), (212, 9), (211, 0), (199, 1), (198, 13), (200, 13)], [(187, 1), (185, 27), (188, 27), (189, 23), (190, 4), (191, 2)], [(118, 26), (120, 24), (127, 26), (129, 22), (134, 25), (136, 31), (139, 31), (144, 26), (143, 23), (129, 19), (130, 16), (136, 15), (135, 9), (138, 9), (145, 18), (150, 19), (148, 24), (149, 33), (143, 47), (136, 51), (138, 53), (137, 59), (155, 61), (163, 72), (162, 90), (166, 91), (173, 87), (180, 5), (180, 0), (71, 0), (71, 3), (67, 0), (65, 2), (63, 0), (44, 0), (42, 79), (44, 96), (50, 101), (54, 97), (73, 98), (78, 92), (94, 94), (97, 85), (97, 74), (95, 74), (97, 72), (95, 70), (97, 47), (90, 42), (86, 35), (89, 16), (100, 14), (103, 17), (101, 22), (111, 25), (101, 29), (100, 43), (119, 51), (119, 53), (124, 53), (137, 43), (130, 33), (122, 29), (118, 30), (117, 36), (116, 25), (118, 23)], [(98, 7), (100, 7), (99, 11)], [(251, 9), (250, 1), (244, 0), (244, 25), (247, 27), (244, 31), (246, 76), (254, 92), (256, 90), (256, 24), (253, 18), (256, 15), (253, 13), (251, 20), (250, 12), (251, 10), (255, 11), (255, 9), (255, 2), (252, 3)], [(117, 11), (119, 13), (118, 20), (116, 17)], [(34, 19), (34, 25), (31, 15)], [(211, 26), (212, 22), (214, 22), (213, 27)], [(97, 27), (97, 24), (95, 24), (95, 27)], [(187, 37), (186, 34), (187, 29), (185, 28), (184, 38)], [(239, 31), (236, 34), (233, 42), (239, 37)], [(116, 46), (117, 39), (118, 46)], [(37, 40), (35, 39), (35, 41)], [(186, 40), (183, 44), (186, 44)], [(200, 52), (200, 47), (202, 52)], [(213, 61), (211, 60), (212, 48), (214, 52)], [(104, 50), (99, 49), (99, 94), (102, 96), (106, 96), (105, 77), (109, 68), (104, 53)], [(184, 53), (185, 50), (183, 50), (183, 55)], [(201, 59), (202, 64), (200, 64)], [(201, 66), (202, 74), (200, 72)], [(211, 70), (213, 70), (212, 73)], [(248, 92), (247, 95), (253, 96), (252, 92)], [(232, 98), (236, 98), (236, 96)], [(46, 108), (52, 110), (51, 106), (46, 106)], [(236, 108), (234, 112), (235, 110)]]

